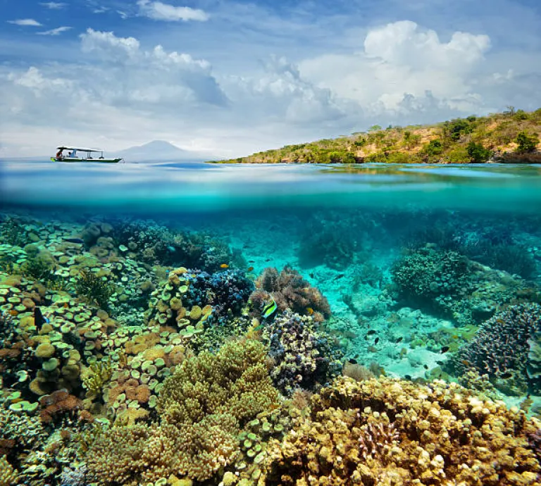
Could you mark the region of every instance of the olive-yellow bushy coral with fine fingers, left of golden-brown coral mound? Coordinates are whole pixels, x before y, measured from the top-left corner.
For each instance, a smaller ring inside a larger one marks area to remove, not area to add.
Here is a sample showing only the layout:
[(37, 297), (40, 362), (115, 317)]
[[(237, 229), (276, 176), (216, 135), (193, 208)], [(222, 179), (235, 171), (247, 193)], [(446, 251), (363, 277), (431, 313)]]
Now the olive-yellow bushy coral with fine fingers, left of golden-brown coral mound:
[(104, 432), (87, 452), (89, 473), (104, 485), (147, 484), (173, 473), (209, 480), (240, 454), (242, 425), (277, 406), (265, 362), (263, 344), (250, 340), (185, 359), (163, 383), (161, 425)]

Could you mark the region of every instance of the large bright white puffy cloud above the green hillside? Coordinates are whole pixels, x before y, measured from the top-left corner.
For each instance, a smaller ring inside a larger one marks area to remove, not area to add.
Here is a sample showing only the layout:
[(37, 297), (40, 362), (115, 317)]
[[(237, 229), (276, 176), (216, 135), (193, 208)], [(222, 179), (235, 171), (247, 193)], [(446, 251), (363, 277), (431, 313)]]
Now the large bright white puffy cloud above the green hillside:
[[(489, 49), (487, 35), (454, 32), (442, 42), (434, 30), (404, 20), (369, 30), (357, 53), (302, 62), (301, 73), (369, 113), (397, 114), (414, 106), (475, 111), (482, 103), (473, 80)], [(411, 96), (423, 101), (412, 104)]]

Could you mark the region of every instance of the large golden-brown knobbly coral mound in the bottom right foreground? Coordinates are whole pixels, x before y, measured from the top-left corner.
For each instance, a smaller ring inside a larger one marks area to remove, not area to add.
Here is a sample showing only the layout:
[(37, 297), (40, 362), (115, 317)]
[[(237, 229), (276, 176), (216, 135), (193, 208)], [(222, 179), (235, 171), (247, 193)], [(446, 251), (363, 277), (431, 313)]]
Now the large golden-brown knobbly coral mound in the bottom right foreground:
[(311, 398), (259, 485), (539, 485), (538, 420), (442, 381), (338, 378)]

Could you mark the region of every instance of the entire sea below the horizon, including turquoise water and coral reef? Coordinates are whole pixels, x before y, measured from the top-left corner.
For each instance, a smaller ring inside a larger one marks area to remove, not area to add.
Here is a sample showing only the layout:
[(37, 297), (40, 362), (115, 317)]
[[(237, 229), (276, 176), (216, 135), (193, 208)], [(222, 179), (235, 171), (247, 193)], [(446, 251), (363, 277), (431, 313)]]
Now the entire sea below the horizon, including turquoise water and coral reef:
[(541, 168), (0, 192), (0, 486), (541, 485)]

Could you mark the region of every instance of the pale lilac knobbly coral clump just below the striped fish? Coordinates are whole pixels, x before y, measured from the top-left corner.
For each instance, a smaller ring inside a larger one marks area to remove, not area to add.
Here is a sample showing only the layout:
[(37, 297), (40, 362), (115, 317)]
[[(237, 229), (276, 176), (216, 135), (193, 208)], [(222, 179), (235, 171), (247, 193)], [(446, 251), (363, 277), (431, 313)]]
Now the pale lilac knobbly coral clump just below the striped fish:
[(274, 366), (270, 376), (286, 395), (296, 388), (313, 390), (340, 373), (342, 353), (310, 316), (285, 313), (263, 328)]

